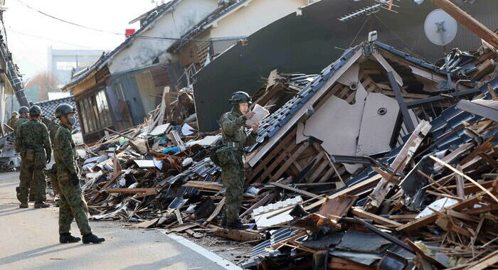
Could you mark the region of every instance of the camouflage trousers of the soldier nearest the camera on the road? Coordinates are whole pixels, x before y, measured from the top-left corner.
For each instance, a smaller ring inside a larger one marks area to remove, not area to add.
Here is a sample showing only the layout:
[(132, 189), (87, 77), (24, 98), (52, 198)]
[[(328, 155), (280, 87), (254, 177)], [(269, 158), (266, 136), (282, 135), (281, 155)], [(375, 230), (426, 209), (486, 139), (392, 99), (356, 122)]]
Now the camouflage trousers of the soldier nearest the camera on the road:
[(57, 170), (57, 183), (60, 197), (59, 234), (70, 233), (73, 220), (76, 220), (82, 235), (92, 233), (88, 222), (87, 202), (80, 185), (73, 185), (70, 173), (60, 167)]

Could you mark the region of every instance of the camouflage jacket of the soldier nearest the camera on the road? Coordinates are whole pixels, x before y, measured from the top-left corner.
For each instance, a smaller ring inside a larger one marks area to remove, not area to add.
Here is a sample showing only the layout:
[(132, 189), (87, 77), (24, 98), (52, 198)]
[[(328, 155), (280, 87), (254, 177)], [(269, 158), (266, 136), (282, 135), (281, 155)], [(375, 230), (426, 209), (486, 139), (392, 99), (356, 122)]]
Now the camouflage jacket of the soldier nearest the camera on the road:
[(71, 136), (72, 129), (72, 127), (60, 123), (53, 139), (53, 157), (57, 168), (64, 168), (71, 174), (78, 173), (76, 168), (78, 153), (76, 152), (73, 136)]

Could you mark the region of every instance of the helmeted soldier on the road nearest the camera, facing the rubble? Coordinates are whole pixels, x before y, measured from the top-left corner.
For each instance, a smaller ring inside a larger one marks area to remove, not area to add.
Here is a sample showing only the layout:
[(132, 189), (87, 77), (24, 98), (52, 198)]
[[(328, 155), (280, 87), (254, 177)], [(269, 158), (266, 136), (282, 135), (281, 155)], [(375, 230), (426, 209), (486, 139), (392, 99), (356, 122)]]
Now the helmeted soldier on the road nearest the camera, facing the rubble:
[(71, 136), (75, 124), (75, 109), (70, 104), (60, 104), (55, 109), (55, 117), (60, 125), (53, 139), (53, 156), (55, 158), (55, 174), (60, 196), (59, 206), (59, 242), (74, 243), (80, 237), (71, 235), (71, 223), (76, 220), (83, 235), (83, 244), (104, 242), (104, 238), (92, 234), (88, 222), (88, 207), (83, 197), (76, 164), (76, 146)]

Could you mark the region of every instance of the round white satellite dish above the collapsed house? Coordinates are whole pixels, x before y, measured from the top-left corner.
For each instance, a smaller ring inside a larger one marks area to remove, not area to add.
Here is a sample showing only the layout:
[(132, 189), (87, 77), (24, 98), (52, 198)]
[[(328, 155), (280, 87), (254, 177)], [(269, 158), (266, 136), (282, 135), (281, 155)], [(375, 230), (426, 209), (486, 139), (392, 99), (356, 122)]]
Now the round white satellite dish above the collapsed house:
[(457, 21), (443, 9), (430, 11), (425, 18), (425, 36), (435, 45), (444, 46), (450, 43), (457, 36), (457, 30)]

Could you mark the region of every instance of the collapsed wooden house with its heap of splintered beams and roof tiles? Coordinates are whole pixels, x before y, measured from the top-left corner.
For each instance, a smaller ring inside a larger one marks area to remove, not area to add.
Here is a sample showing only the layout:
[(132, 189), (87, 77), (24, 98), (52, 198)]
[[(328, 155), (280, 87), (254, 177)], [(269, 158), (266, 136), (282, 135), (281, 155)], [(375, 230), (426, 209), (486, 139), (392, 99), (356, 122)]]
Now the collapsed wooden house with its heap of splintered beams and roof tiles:
[(246, 148), (243, 231), (218, 227), (208, 151), (221, 136), (196, 130), (191, 90), (165, 91), (144, 124), (78, 149), (91, 218), (259, 243), (248, 269), (491, 266), (497, 57), (454, 50), (447, 82), (444, 66), (366, 42), (319, 75), (272, 71), (255, 95), (271, 114)]

